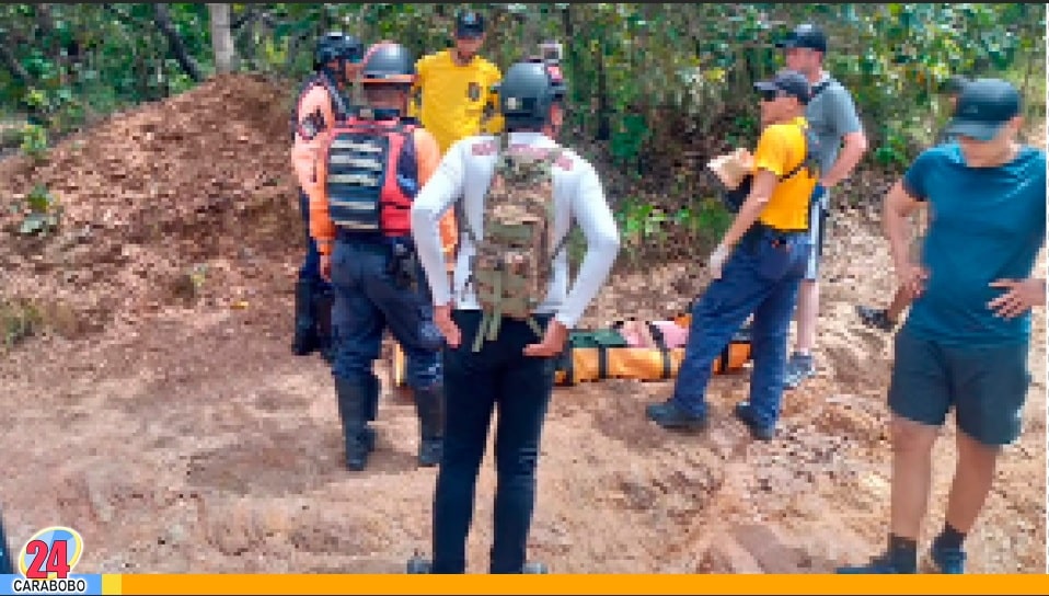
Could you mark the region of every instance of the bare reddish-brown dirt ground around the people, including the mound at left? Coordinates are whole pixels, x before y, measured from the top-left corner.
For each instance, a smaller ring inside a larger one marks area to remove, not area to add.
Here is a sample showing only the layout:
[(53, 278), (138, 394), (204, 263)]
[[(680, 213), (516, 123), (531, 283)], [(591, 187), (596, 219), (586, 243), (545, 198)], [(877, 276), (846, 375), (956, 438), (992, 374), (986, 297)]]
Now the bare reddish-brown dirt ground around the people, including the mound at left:
[[(0, 360), (14, 548), (69, 525), (87, 542), (78, 569), (105, 573), (401, 573), (428, 551), (436, 472), (415, 469), (412, 404), (384, 397), (372, 463), (347, 472), (330, 371), (289, 353), (302, 240), (283, 100), (222, 79), (67, 139), (36, 169), (0, 162), (0, 196), (45, 182), (67, 205), (50, 240), (18, 237), (12, 217), (0, 232), (0, 298), (44, 319)], [(837, 218), (820, 374), (786, 396), (774, 442), (752, 443), (730, 416), (746, 373), (714, 380), (699, 436), (645, 420), (669, 382), (555, 390), (531, 557), (558, 573), (820, 573), (880, 550), (891, 339), (853, 312), (892, 291), (873, 219)], [(672, 316), (700, 289), (702, 274), (685, 275), (698, 270), (618, 275), (587, 322)], [(1039, 311), (1024, 435), (969, 538), (972, 572), (1046, 569), (1045, 337)], [(953, 438), (948, 425), (926, 538), (942, 525)], [(493, 490), (488, 457), (473, 572), (486, 569)]]

